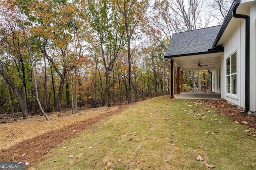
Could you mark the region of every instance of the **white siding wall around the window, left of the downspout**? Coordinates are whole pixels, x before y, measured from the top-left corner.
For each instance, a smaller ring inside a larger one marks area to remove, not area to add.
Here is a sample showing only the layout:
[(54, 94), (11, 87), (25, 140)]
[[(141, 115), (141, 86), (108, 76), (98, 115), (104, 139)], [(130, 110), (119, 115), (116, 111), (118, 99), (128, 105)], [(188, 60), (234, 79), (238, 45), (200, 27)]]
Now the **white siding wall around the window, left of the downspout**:
[[(224, 41), (224, 55), (221, 61), (221, 97), (235, 105), (245, 107), (245, 46), (244, 46), (244, 19), (237, 18), (236, 25), (230, 30)], [(237, 58), (237, 95), (227, 93), (226, 59), (236, 51)]]

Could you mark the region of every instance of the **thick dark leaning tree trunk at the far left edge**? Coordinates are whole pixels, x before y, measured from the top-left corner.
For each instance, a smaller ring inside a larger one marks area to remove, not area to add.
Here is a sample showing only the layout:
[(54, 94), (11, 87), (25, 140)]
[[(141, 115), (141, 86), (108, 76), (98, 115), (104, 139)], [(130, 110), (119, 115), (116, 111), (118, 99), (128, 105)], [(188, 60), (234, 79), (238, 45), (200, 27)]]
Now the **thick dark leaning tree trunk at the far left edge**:
[(23, 119), (29, 118), (30, 116), (28, 115), (28, 109), (27, 109), (27, 107), (26, 107), (26, 105), (23, 101), (23, 98), (20, 94), (20, 91), (19, 91), (18, 87), (16, 85), (14, 85), (14, 83), (12, 82), (10, 77), (5, 73), (2, 63), (0, 63), (0, 74), (4, 77), (4, 79), (6, 80), (8, 85), (10, 87), (12, 87), (12, 89), (13, 89), (13, 91), (14, 91), (17, 99), (18, 99), (20, 109), (22, 111)]

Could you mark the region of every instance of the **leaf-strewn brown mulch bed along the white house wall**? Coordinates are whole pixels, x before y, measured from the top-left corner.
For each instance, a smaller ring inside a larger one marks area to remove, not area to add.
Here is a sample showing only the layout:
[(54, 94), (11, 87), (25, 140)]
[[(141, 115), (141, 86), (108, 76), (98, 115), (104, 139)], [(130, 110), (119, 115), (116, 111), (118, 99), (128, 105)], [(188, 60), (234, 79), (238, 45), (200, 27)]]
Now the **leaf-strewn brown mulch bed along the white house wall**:
[(248, 115), (246, 113), (240, 113), (240, 107), (231, 105), (225, 100), (205, 100), (205, 105), (218, 109), (219, 114), (225, 117), (232, 117), (233, 122), (241, 123), (242, 121), (248, 122), (248, 126), (256, 128), (256, 117), (254, 115)]

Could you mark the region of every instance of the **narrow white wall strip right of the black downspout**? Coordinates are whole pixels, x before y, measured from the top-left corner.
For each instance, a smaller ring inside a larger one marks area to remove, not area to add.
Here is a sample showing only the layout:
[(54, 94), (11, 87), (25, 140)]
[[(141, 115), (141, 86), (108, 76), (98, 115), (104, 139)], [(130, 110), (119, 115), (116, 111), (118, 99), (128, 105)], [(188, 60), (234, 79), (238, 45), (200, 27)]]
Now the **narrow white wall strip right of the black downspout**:
[(250, 111), (256, 111), (256, 2), (250, 6)]

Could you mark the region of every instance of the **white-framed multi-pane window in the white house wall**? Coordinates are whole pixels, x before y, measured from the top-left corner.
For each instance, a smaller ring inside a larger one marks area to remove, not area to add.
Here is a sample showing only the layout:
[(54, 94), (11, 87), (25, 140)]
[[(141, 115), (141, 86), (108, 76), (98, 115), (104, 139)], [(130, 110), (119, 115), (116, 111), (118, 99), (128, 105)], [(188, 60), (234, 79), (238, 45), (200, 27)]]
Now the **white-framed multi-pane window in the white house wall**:
[(237, 95), (236, 52), (226, 59), (227, 93)]

